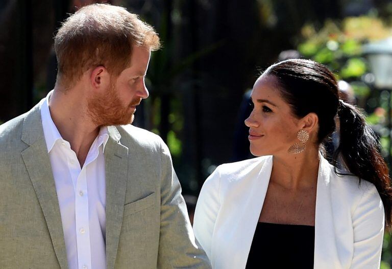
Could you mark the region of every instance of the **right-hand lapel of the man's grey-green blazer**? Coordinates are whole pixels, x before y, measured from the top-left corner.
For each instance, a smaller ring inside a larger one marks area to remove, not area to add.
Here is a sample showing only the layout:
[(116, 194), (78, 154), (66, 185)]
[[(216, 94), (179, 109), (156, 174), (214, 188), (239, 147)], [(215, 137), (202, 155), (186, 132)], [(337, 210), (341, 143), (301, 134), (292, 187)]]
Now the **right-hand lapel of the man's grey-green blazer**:
[(124, 212), (128, 178), (128, 148), (120, 144), (116, 127), (109, 126), (105, 147), (106, 173), (106, 264), (114, 268)]

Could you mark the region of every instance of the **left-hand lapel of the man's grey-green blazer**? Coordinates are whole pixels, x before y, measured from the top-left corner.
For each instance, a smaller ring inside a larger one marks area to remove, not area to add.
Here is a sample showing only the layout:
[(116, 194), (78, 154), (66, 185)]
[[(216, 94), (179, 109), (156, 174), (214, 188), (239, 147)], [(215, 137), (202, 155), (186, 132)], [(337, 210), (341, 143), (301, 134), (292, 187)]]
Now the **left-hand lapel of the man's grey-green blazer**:
[(29, 145), (21, 152), (22, 159), (42, 208), (57, 259), (61, 268), (65, 269), (68, 265), (59, 201), (43, 135), (39, 104), (24, 119), (21, 140)]

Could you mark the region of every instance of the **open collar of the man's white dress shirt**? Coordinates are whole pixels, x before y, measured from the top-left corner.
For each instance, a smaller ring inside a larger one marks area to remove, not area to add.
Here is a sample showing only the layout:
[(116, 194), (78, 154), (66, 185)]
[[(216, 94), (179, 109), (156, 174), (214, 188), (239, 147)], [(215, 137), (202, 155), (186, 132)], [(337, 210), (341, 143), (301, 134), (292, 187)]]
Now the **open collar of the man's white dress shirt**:
[[(43, 135), (45, 137), (48, 153), (53, 149), (53, 146), (55, 145), (57, 140), (63, 140), (59, 130), (57, 129), (55, 123), (52, 120), (51, 112), (48, 105), (49, 98), (51, 97), (52, 93), (53, 91), (49, 92), (40, 105)], [(109, 139), (108, 127), (102, 126), (96, 138), (96, 141), (98, 143), (98, 147), (103, 145), (103, 152), (105, 152), (105, 146), (106, 143), (108, 142), (108, 139)]]

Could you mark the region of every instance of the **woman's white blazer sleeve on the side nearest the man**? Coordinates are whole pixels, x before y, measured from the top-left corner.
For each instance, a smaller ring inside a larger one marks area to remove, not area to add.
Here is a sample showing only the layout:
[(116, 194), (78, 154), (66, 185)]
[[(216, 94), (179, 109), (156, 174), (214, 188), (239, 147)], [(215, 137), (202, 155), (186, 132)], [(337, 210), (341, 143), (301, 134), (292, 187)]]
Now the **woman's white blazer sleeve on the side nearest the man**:
[(211, 243), (219, 202), (220, 174), (219, 167), (207, 178), (200, 192), (194, 212), (193, 231), (196, 240), (211, 259)]

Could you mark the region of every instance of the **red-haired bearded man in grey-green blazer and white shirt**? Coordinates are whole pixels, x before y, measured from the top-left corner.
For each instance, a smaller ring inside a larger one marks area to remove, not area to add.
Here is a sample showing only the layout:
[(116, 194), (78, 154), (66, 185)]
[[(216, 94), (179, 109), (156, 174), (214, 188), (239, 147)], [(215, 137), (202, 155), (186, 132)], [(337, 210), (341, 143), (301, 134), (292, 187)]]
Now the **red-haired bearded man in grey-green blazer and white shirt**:
[(120, 7), (64, 22), (54, 91), (0, 126), (0, 268), (210, 268), (168, 148), (130, 125), (158, 47)]

